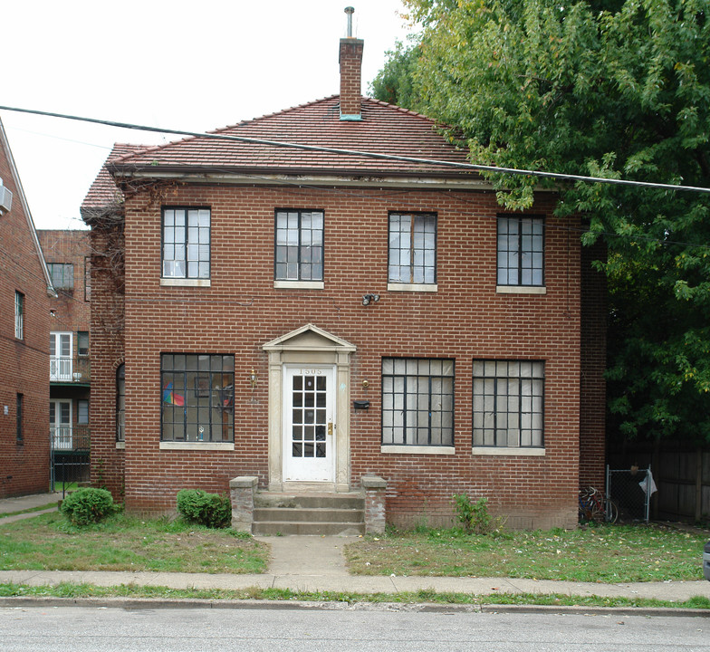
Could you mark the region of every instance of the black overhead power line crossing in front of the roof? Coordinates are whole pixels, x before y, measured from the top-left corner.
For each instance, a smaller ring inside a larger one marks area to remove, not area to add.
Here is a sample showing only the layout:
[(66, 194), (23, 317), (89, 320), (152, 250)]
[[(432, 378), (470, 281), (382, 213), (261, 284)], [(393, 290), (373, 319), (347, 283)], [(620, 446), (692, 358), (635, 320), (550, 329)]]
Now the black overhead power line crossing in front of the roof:
[(526, 170), (520, 168), (498, 168), (496, 166), (479, 165), (477, 163), (458, 163), (456, 161), (437, 160), (432, 158), (416, 158), (398, 156), (397, 154), (384, 154), (378, 152), (365, 152), (355, 149), (329, 148), (321, 145), (304, 145), (302, 143), (284, 142), (283, 140), (269, 140), (250, 138), (248, 136), (235, 136), (234, 134), (222, 133), (200, 133), (198, 131), (187, 131), (185, 129), (158, 129), (158, 127), (147, 127), (145, 125), (131, 124), (129, 122), (116, 122), (114, 120), (99, 120), (97, 118), (84, 118), (82, 116), (66, 115), (64, 113), (53, 113), (35, 109), (20, 109), (17, 107), (0, 106), (0, 110), (11, 110), (19, 113), (31, 113), (49, 118), (62, 118), (63, 120), (77, 120), (79, 122), (91, 122), (106, 127), (118, 127), (120, 129), (134, 129), (138, 131), (152, 131), (155, 133), (173, 134), (175, 136), (188, 136), (192, 138), (231, 140), (235, 142), (254, 143), (256, 145), (268, 145), (271, 147), (304, 149), (307, 151), (326, 152), (329, 154), (339, 154), (342, 156), (358, 156), (365, 158), (379, 158), (384, 160), (397, 160), (404, 163), (416, 163), (418, 165), (441, 166), (442, 168), (456, 168), (473, 170), (477, 172), (493, 172), (498, 174), (523, 175), (525, 177), (550, 178), (564, 181), (584, 181), (586, 183), (609, 184), (612, 186), (648, 187), (656, 190), (683, 190), (686, 192), (697, 192), (710, 194), (710, 188), (697, 186), (681, 186), (674, 184), (653, 183), (651, 181), (632, 181), (630, 179), (614, 179), (606, 177), (589, 177), (585, 175), (564, 174), (562, 172), (542, 172), (541, 170)]

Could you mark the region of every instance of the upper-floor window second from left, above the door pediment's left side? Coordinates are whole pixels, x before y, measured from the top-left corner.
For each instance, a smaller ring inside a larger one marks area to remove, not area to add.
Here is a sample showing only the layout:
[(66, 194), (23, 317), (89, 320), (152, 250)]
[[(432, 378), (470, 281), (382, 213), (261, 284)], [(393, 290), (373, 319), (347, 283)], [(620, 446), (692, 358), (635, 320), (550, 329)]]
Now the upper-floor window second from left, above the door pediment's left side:
[(323, 212), (276, 211), (277, 281), (323, 280)]

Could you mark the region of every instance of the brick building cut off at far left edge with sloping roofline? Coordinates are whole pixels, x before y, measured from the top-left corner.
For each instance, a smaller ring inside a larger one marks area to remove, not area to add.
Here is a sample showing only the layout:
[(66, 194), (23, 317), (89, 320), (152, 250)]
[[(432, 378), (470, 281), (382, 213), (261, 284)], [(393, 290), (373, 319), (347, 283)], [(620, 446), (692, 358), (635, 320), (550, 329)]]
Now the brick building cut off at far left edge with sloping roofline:
[(0, 497), (49, 489), (49, 319), (54, 295), (0, 121)]

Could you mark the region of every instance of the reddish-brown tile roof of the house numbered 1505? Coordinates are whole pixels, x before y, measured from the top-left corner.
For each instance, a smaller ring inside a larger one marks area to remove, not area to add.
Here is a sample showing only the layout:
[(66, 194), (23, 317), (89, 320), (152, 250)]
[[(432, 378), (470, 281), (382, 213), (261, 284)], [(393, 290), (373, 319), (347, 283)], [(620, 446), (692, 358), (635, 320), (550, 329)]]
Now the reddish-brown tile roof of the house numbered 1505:
[[(425, 116), (386, 102), (362, 98), (362, 120), (340, 120), (340, 97), (323, 100), (217, 129), (214, 134), (298, 143), (335, 149), (466, 162), (465, 151), (452, 146)], [(115, 152), (116, 150), (114, 150)], [(335, 175), (435, 175), (477, 177), (469, 171), (428, 163), (369, 158), (355, 154), (285, 148), (263, 143), (191, 137), (148, 149), (131, 149), (107, 161), (111, 170), (128, 173), (215, 168), (216, 172)], [(101, 174), (97, 177), (100, 180)], [(96, 183), (94, 185), (96, 185)], [(90, 195), (87, 200), (92, 197)]]

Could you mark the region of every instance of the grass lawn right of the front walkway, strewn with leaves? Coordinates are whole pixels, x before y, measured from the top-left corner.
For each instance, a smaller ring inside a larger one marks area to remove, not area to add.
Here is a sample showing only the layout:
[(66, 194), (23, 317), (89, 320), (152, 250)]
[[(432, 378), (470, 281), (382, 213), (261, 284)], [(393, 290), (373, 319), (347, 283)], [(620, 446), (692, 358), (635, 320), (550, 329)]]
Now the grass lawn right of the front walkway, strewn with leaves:
[(703, 580), (708, 534), (661, 525), (550, 532), (388, 532), (345, 548), (356, 575), (512, 577), (587, 582)]

